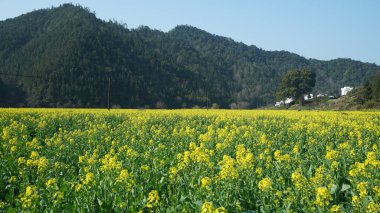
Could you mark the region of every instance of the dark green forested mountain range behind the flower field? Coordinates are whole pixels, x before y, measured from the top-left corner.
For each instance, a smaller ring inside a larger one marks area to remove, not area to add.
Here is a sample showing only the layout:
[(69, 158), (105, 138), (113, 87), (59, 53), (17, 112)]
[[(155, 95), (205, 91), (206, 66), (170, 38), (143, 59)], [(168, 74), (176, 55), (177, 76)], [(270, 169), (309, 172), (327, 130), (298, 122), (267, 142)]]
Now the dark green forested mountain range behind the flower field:
[(191, 26), (164, 33), (104, 22), (65, 4), (0, 22), (0, 105), (181, 108), (275, 101), (289, 69), (316, 72), (314, 92), (339, 94), (380, 70), (350, 59), (320, 61), (265, 51)]

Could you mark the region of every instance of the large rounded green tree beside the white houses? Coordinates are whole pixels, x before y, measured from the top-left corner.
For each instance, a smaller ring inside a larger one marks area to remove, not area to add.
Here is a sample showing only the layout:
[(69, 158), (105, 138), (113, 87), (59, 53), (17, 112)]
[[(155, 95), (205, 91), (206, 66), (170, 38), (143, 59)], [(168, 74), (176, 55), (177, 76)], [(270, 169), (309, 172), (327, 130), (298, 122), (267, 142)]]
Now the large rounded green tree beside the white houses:
[(293, 97), (303, 105), (304, 95), (310, 93), (315, 86), (316, 74), (309, 69), (290, 70), (281, 80), (277, 98), (284, 100)]

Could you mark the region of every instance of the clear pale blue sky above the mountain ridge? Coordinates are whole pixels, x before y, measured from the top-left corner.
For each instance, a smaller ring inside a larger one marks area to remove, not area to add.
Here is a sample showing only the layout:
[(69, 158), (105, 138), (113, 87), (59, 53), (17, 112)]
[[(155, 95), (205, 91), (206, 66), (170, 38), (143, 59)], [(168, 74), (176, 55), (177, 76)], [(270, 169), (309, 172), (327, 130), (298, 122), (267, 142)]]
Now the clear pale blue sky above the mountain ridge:
[(378, 0), (2, 0), (0, 20), (69, 2), (129, 28), (187, 24), (265, 50), (380, 65)]

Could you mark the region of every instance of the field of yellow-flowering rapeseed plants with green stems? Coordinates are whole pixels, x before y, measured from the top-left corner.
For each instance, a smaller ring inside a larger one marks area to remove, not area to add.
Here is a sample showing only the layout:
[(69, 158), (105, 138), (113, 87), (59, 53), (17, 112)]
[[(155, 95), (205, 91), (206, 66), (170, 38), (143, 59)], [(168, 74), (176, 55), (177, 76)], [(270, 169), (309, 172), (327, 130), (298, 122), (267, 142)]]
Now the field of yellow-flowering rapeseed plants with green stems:
[(0, 212), (378, 212), (380, 112), (0, 110)]

